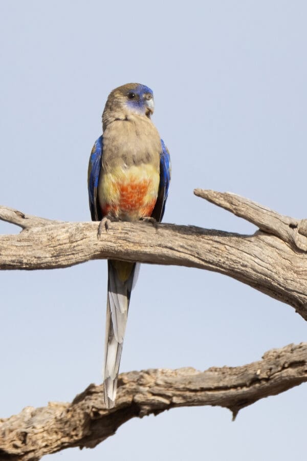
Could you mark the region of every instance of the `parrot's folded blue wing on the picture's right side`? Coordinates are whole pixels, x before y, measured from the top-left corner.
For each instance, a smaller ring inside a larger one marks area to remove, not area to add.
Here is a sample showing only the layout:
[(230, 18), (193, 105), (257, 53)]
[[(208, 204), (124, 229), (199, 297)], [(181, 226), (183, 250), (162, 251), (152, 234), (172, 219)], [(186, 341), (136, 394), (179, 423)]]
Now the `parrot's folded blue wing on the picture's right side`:
[(151, 213), (151, 216), (155, 218), (158, 222), (162, 221), (165, 209), (165, 202), (168, 195), (168, 188), (170, 182), (170, 157), (168, 149), (161, 139), (162, 152), (160, 154), (160, 183), (157, 202), (155, 208)]

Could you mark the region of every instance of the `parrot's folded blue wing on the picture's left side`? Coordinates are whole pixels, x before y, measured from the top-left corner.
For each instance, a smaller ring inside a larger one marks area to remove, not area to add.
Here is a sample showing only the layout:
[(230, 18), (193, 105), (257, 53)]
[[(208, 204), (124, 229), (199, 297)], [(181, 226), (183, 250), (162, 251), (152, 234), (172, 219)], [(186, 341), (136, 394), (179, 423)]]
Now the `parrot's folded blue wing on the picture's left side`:
[(102, 219), (97, 196), (98, 180), (101, 170), (102, 146), (103, 137), (100, 136), (93, 146), (89, 162), (89, 172), (87, 175), (87, 187), (89, 189), (89, 202), (92, 221), (100, 221)]

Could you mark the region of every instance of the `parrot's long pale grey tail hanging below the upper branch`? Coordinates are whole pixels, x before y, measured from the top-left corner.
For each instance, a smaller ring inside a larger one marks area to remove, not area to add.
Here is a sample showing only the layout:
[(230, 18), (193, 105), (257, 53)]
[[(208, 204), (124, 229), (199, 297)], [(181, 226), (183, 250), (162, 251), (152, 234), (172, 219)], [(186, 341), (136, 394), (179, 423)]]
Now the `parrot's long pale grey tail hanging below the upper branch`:
[(108, 260), (106, 334), (104, 355), (104, 402), (115, 405), (117, 378), (136, 263)]

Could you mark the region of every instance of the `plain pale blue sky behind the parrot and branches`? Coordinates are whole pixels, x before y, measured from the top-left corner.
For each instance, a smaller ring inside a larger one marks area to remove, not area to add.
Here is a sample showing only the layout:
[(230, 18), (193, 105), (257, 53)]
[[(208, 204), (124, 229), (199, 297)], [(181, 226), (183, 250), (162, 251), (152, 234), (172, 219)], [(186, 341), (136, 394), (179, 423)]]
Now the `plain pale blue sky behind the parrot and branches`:
[[(0, 0), (0, 203), (89, 221), (87, 162), (107, 95), (137, 81), (155, 93), (153, 122), (172, 159), (165, 222), (255, 231), (194, 187), (306, 218), (306, 16), (295, 0)], [(0, 222), (0, 233), (18, 232)], [(0, 417), (101, 382), (106, 280), (105, 261), (0, 273)], [(292, 307), (242, 283), (143, 265), (121, 371), (243, 365), (305, 340)], [(44, 459), (300, 459), (306, 412), (301, 385), (235, 422), (219, 407), (174, 409)]]

